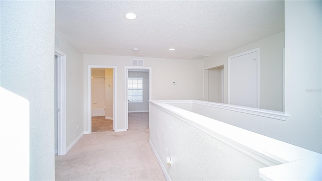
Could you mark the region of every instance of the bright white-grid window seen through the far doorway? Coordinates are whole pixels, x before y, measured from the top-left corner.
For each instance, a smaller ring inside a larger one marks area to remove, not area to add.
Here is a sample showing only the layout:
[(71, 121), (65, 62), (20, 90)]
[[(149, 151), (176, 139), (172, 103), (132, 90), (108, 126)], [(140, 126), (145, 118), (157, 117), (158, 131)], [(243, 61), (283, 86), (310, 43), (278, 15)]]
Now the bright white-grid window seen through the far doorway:
[(129, 102), (143, 102), (143, 78), (127, 79), (127, 96)]

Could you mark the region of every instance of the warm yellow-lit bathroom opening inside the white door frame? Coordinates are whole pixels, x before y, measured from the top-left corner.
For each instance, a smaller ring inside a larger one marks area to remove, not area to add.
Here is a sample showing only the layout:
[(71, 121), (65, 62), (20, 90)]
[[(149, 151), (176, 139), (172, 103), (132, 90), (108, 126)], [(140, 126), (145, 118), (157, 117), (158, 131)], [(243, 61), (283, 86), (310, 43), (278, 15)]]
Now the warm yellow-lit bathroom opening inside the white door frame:
[(92, 132), (113, 131), (113, 68), (92, 68)]

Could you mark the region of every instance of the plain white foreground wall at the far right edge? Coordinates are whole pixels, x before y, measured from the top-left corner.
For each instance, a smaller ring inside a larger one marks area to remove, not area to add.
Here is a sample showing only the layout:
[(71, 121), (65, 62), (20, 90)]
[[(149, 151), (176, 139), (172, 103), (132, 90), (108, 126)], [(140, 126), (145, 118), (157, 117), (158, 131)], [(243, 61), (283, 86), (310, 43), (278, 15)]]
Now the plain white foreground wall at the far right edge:
[[(322, 152), (321, 1), (285, 1), (286, 142)], [(310, 92), (311, 89), (313, 92)]]

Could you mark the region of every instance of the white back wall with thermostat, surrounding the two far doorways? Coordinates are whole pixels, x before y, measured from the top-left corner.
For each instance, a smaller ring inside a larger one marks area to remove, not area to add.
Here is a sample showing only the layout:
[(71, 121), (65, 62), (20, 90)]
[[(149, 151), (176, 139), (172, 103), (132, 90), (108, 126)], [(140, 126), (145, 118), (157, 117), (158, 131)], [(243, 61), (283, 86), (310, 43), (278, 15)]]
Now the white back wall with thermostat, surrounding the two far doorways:
[[(124, 66), (131, 66), (132, 58), (144, 59), (144, 66), (152, 67), (152, 100), (197, 99), (203, 92), (203, 61), (84, 55), (84, 124), (88, 131), (88, 65), (117, 66), (117, 128), (125, 129)], [(177, 84), (172, 84), (177, 81)]]

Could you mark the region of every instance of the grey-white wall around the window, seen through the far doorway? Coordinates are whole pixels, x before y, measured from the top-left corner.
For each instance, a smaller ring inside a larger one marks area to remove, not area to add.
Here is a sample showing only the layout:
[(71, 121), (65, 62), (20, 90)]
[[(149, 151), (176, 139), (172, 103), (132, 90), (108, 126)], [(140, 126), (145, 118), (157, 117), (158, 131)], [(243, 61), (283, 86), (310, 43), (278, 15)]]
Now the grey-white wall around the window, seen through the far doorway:
[(149, 110), (149, 72), (129, 71), (128, 77), (143, 78), (143, 102), (128, 104), (128, 112)]

